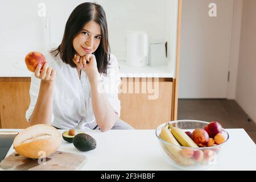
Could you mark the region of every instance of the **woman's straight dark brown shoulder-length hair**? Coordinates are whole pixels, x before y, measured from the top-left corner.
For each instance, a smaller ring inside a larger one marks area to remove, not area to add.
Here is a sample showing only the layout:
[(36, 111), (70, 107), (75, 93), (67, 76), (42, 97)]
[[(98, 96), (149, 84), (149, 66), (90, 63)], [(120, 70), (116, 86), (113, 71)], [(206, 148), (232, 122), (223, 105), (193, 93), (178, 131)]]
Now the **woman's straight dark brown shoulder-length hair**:
[(52, 49), (50, 53), (55, 57), (60, 54), (60, 58), (64, 63), (69, 64), (72, 68), (76, 68), (76, 64), (72, 60), (76, 54), (73, 48), (73, 39), (75, 39), (85, 24), (90, 21), (100, 24), (101, 27), (101, 42), (94, 55), (97, 60), (98, 72), (106, 74), (110, 60), (108, 24), (103, 7), (96, 3), (81, 3), (72, 11), (67, 20), (60, 46)]

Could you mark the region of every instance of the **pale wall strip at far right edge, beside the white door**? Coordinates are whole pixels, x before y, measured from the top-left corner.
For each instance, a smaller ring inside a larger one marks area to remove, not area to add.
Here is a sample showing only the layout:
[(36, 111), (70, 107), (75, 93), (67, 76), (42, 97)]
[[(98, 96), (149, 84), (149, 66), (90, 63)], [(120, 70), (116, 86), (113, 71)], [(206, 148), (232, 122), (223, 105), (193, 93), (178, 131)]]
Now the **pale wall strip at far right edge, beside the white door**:
[(243, 1), (236, 101), (256, 122), (256, 1)]

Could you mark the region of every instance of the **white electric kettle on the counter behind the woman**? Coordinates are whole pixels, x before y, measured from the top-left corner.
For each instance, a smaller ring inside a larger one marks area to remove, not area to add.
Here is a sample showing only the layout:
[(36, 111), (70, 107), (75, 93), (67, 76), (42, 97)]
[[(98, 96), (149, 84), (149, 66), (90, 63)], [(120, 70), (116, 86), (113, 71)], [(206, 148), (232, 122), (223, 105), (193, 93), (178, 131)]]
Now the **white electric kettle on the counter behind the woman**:
[(148, 37), (144, 32), (127, 32), (126, 64), (144, 67), (148, 62)]

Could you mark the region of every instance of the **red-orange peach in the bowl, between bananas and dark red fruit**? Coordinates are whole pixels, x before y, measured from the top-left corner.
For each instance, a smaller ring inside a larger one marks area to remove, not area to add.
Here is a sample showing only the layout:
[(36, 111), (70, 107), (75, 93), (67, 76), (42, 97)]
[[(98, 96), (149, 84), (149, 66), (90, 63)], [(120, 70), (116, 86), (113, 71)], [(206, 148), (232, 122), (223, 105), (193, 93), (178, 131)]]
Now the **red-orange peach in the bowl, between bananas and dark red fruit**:
[(209, 142), (209, 135), (204, 129), (195, 129), (191, 138), (199, 147), (205, 147)]

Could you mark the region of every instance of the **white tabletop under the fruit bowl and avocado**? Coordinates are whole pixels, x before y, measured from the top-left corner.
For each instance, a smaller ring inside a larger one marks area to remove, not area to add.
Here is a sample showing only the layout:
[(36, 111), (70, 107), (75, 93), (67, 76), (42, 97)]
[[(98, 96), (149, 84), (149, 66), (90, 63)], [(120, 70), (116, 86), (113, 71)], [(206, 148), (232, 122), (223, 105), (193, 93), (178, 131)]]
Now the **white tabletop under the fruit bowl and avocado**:
[[(21, 131), (1, 129), (0, 131)], [(64, 130), (59, 130), (63, 133)], [(256, 170), (256, 147), (243, 129), (227, 129), (230, 138), (222, 148), (217, 164), (206, 170)], [(85, 130), (97, 141), (97, 147), (88, 152), (77, 150), (63, 140), (59, 151), (85, 155), (88, 159), (81, 170), (179, 170), (163, 158), (155, 130)], [(7, 156), (14, 152), (11, 146)]]

